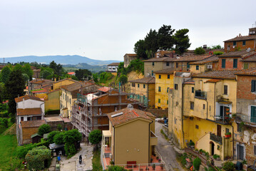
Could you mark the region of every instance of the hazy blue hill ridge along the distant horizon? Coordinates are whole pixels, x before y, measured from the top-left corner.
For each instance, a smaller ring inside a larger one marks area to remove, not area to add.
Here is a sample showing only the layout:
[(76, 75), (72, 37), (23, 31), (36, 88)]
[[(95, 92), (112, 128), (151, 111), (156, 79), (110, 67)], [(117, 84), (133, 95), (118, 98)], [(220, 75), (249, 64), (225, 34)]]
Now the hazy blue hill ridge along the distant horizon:
[[(3, 58), (0, 58), (1, 62), (3, 62)], [(5, 63), (18, 63), (18, 62), (37, 62), (37, 63), (51, 63), (51, 61), (55, 61), (56, 63), (61, 63), (62, 65), (76, 65), (78, 63), (87, 63), (91, 66), (102, 66), (108, 65), (109, 63), (118, 63), (121, 61), (101, 61), (96, 59), (87, 58), (85, 56), (19, 56), (19, 57), (12, 57), (12, 58), (4, 58)]]

